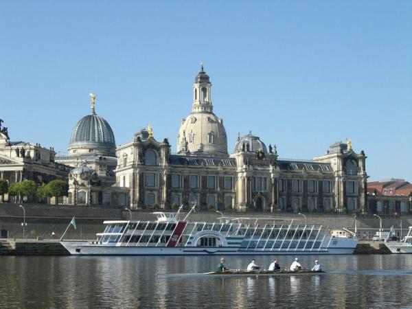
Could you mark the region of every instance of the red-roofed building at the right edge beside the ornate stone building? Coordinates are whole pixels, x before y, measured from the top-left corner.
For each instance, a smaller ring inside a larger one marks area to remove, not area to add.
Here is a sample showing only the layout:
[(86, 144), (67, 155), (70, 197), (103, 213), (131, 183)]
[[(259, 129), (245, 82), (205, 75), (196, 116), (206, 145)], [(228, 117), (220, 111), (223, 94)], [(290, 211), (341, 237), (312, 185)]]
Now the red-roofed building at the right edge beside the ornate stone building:
[(367, 209), (374, 214), (408, 214), (412, 211), (412, 184), (404, 179), (367, 183)]

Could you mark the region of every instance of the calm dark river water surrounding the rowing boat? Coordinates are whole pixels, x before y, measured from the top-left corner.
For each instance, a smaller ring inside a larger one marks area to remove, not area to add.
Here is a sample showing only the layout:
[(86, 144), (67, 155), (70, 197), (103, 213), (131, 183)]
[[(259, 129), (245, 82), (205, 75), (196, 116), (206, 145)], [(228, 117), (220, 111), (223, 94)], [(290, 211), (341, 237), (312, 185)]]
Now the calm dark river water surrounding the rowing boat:
[[(280, 257), (282, 266), (293, 256)], [(302, 256), (311, 266), (314, 256)], [(0, 257), (1, 308), (412, 308), (412, 255), (319, 256), (324, 275), (157, 277), (219, 257)], [(268, 266), (271, 257), (257, 257)], [(248, 257), (226, 257), (244, 268)]]

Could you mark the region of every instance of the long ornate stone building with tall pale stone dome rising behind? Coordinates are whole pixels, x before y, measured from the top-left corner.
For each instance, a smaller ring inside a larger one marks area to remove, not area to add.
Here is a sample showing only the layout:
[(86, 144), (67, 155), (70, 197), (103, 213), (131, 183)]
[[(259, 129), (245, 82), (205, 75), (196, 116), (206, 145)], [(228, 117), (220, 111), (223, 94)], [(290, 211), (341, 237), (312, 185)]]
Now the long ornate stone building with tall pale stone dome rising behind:
[(238, 137), (231, 155), (223, 120), (213, 112), (203, 66), (193, 84), (192, 112), (181, 122), (177, 155), (167, 139), (141, 130), (117, 148), (116, 186), (132, 208), (193, 205), (237, 211), (356, 211), (365, 208), (365, 154), (352, 144), (330, 146), (309, 161), (279, 159), (258, 136)]

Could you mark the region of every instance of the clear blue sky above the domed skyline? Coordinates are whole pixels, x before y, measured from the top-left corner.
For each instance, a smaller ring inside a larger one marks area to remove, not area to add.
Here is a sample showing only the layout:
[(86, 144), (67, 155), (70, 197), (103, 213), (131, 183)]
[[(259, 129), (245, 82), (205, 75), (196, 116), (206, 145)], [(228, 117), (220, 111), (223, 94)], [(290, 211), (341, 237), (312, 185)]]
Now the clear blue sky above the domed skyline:
[(412, 181), (412, 1), (1, 1), (0, 40), (12, 140), (67, 151), (94, 92), (117, 144), (151, 124), (175, 151), (203, 60), (230, 152), (350, 137), (369, 180)]

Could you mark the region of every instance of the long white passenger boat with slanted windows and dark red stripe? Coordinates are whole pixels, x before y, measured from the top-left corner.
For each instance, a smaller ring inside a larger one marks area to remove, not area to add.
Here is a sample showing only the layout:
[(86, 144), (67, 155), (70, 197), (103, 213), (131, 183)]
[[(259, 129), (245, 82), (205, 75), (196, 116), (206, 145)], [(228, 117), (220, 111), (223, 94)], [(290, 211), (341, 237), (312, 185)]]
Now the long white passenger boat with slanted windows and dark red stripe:
[(335, 238), (322, 226), (296, 224), (295, 219), (188, 222), (190, 213), (180, 219), (180, 209), (153, 214), (157, 220), (104, 221), (106, 229), (95, 242), (61, 244), (72, 255), (329, 255), (352, 254), (358, 243), (356, 238)]

